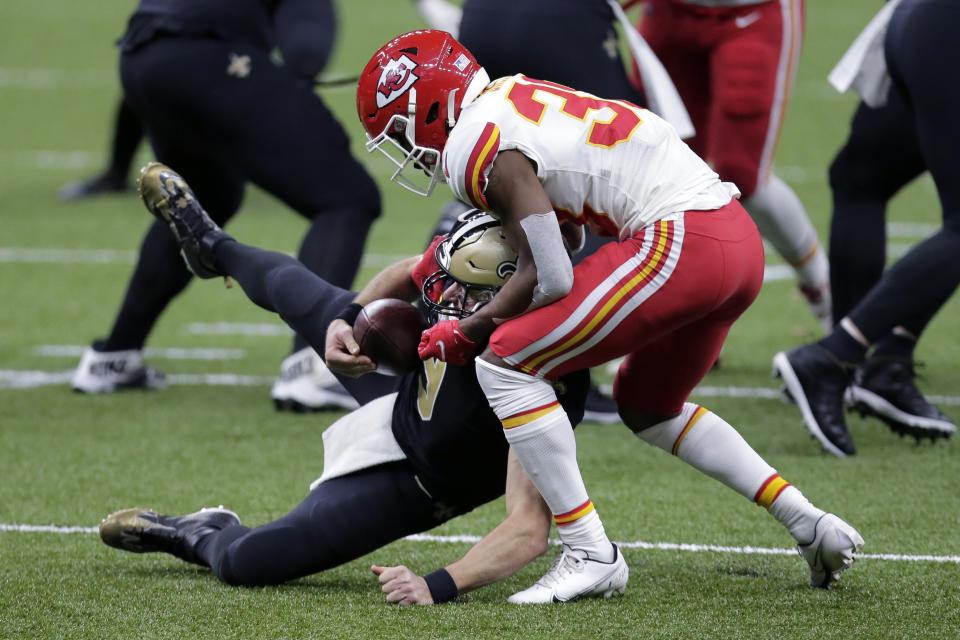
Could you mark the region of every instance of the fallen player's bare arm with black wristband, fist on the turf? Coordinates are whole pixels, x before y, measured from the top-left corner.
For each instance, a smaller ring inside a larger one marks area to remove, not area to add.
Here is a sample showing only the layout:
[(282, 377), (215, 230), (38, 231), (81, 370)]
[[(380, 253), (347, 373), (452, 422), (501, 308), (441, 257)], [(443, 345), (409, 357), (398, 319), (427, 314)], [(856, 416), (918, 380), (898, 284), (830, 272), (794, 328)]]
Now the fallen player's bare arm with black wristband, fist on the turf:
[(404, 566), (371, 567), (387, 601), (433, 604), (437, 599), (449, 600), (502, 580), (543, 555), (550, 533), (550, 510), (513, 451), (507, 463), (506, 503), (506, 519), (466, 555), (440, 571), (422, 577)]

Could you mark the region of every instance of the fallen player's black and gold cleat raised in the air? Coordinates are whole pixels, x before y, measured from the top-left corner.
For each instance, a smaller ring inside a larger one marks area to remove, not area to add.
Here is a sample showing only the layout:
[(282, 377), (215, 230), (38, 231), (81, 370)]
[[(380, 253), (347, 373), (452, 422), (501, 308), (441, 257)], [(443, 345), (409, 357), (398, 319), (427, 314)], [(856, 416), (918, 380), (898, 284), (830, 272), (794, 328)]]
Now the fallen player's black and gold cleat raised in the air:
[(233, 238), (210, 219), (179, 174), (164, 164), (151, 162), (140, 171), (137, 191), (147, 211), (169, 225), (180, 245), (180, 254), (194, 275), (227, 275), (213, 248), (221, 240)]

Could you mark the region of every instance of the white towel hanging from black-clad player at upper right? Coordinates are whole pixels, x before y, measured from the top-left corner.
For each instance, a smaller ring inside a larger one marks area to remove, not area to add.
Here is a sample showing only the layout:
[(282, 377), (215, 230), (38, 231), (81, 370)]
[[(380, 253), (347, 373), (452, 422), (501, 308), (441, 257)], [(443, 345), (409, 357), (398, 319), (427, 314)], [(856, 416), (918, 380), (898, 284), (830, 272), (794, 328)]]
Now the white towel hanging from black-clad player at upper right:
[(890, 16), (898, 4), (900, 0), (890, 0), (883, 5), (827, 76), (837, 91), (843, 93), (853, 89), (867, 105), (874, 108), (887, 103), (890, 91), (883, 40), (887, 35)]

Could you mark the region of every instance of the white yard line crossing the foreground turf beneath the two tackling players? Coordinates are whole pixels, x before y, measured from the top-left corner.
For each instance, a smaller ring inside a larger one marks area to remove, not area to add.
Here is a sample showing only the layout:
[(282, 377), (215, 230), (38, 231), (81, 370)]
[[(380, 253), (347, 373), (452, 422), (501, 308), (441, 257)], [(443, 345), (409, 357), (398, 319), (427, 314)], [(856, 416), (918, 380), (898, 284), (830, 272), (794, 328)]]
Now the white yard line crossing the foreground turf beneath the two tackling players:
[[(59, 525), (35, 525), (35, 524), (5, 524), (0, 523), (0, 532), (13, 533), (96, 533), (97, 527), (82, 526), (59, 526)], [(477, 535), (452, 535), (438, 536), (429, 533), (416, 533), (405, 538), (411, 542), (439, 542), (444, 544), (476, 544), (481, 536)], [(555, 545), (559, 545), (559, 540), (551, 540)], [(775, 555), (775, 556), (795, 556), (797, 550), (793, 548), (772, 548), (772, 547), (731, 547), (716, 544), (691, 544), (686, 542), (645, 542), (643, 540), (633, 540), (629, 542), (617, 542), (617, 546), (623, 549), (643, 549), (645, 551), (686, 551), (691, 553), (729, 553), (742, 555)], [(858, 560), (888, 560), (893, 562), (938, 562), (960, 564), (960, 556), (934, 556), (918, 555), (906, 553), (858, 553)]]

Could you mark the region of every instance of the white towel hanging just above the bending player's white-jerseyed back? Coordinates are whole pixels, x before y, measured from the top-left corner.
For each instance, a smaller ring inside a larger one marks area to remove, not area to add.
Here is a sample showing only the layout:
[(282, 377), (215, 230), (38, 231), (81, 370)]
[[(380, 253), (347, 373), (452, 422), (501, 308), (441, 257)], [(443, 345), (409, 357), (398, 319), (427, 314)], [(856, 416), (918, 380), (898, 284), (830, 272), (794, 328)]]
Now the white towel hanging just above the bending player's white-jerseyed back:
[(672, 124), (681, 138), (693, 137), (696, 130), (690, 120), (690, 114), (687, 113), (687, 108), (683, 106), (680, 93), (673, 84), (673, 80), (670, 79), (670, 74), (663, 67), (663, 63), (660, 62), (660, 58), (653, 52), (647, 41), (640, 36), (636, 27), (630, 24), (630, 20), (627, 19), (627, 14), (623, 12), (620, 3), (617, 0), (607, 0), (607, 3), (623, 26), (623, 32), (627, 36), (627, 44), (630, 45), (630, 52), (637, 61), (637, 68), (640, 70), (640, 77), (643, 79), (643, 89), (647, 94), (650, 111)]

